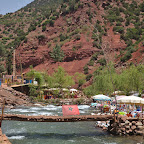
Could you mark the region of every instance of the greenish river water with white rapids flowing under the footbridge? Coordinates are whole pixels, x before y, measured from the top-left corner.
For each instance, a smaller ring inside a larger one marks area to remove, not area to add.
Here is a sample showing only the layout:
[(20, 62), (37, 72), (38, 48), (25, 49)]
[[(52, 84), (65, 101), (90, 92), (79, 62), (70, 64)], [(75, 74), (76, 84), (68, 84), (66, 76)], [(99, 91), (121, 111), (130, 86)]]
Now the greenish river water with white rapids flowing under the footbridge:
[[(78, 106), (80, 114), (90, 114), (94, 109)], [(62, 115), (61, 106), (35, 106), (7, 109), (5, 113), (26, 115)], [(19, 122), (3, 121), (3, 133), (12, 144), (144, 144), (142, 137), (111, 136), (95, 122)]]

